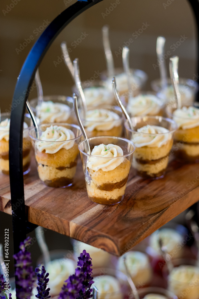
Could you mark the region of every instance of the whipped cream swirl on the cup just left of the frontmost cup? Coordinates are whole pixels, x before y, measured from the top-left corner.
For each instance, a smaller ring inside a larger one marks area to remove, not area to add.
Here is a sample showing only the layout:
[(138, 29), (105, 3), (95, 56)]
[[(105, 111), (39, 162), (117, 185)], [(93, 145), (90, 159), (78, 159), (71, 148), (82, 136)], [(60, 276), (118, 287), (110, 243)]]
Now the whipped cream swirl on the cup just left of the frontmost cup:
[(63, 126), (51, 125), (42, 132), (37, 148), (40, 152), (45, 150), (48, 154), (54, 154), (61, 148), (70, 149), (73, 147), (75, 141), (71, 139), (74, 138), (75, 135), (70, 129)]

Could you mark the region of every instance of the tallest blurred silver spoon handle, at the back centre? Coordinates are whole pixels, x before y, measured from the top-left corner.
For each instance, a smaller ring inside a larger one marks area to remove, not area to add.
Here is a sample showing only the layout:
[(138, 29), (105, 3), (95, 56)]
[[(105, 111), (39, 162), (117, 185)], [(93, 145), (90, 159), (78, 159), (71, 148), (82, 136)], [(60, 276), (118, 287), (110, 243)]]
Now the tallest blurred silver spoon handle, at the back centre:
[(109, 42), (109, 27), (107, 25), (102, 27), (102, 38), (107, 61), (108, 77), (112, 78), (114, 76), (114, 61)]

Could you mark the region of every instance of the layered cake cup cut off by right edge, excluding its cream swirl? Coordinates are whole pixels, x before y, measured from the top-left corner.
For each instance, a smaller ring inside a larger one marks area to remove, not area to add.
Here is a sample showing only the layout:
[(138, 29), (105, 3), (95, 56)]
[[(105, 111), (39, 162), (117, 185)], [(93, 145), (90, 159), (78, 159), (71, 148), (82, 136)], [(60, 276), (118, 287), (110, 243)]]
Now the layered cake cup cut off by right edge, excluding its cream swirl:
[[(183, 105), (190, 106), (190, 105)], [(194, 107), (199, 108), (199, 103), (193, 103)], [(177, 105), (166, 107), (166, 114), (169, 118), (172, 118), (178, 123), (179, 121), (192, 120), (192, 118), (183, 118), (179, 116), (174, 116), (174, 111), (177, 109)], [(175, 158), (183, 163), (199, 163), (199, 126), (195, 126), (190, 129), (183, 129), (178, 127), (174, 133), (174, 144), (173, 151)]]

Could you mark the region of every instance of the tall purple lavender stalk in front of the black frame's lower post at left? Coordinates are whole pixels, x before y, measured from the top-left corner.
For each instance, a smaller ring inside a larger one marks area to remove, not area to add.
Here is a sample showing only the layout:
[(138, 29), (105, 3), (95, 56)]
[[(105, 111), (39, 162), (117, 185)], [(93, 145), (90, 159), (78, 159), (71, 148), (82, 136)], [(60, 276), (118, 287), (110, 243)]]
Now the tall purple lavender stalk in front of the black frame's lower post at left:
[(16, 260), (16, 295), (20, 299), (30, 299), (34, 283), (34, 271), (30, 252), (26, 251), (26, 247), (30, 245), (31, 238), (27, 237), (24, 242), (20, 243), (21, 249), (13, 257)]

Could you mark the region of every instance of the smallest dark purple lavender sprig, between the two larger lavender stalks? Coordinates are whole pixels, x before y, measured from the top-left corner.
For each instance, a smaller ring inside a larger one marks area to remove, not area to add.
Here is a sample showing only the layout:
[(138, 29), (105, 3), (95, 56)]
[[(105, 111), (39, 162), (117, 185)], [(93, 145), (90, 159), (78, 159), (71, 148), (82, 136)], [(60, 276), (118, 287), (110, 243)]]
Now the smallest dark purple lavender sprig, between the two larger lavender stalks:
[[(41, 271), (41, 274), (39, 274), (38, 272)], [(41, 270), (39, 268), (35, 269), (35, 272), (38, 273), (37, 274), (37, 279), (38, 279), (38, 287), (37, 287), (37, 291), (38, 294), (35, 295), (36, 298), (39, 299), (48, 299), (51, 296), (49, 296), (49, 291), (50, 288), (47, 288), (48, 282), (49, 282), (49, 278), (48, 275), (49, 273), (46, 273), (46, 270), (44, 268), (44, 266), (42, 266)], [(46, 275), (45, 275), (46, 273)]]

